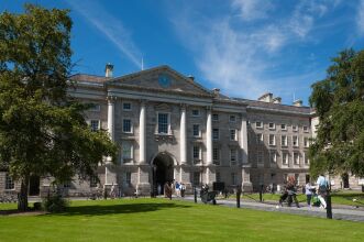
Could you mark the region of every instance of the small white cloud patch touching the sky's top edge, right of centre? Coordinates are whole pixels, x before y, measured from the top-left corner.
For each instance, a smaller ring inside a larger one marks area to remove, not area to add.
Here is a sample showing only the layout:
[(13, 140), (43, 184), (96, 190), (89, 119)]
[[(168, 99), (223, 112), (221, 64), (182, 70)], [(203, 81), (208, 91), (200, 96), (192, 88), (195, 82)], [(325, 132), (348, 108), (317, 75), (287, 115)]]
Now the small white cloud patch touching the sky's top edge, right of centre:
[(239, 15), (245, 21), (265, 19), (273, 4), (267, 0), (233, 0), (232, 7), (239, 10)]

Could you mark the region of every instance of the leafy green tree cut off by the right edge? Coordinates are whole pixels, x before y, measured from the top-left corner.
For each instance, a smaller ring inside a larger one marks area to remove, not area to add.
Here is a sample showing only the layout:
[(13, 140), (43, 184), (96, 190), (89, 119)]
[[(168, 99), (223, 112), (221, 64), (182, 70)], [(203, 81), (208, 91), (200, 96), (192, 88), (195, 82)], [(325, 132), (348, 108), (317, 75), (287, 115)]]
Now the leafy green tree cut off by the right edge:
[(319, 118), (310, 146), (310, 173), (364, 176), (364, 51), (332, 58), (327, 78), (312, 85), (310, 103)]

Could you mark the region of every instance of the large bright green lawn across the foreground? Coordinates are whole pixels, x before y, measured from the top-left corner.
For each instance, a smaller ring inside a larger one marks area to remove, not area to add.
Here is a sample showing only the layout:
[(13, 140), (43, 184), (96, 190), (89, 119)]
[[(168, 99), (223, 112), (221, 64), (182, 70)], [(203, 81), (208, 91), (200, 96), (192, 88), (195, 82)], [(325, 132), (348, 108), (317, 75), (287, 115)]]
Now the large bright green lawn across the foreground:
[(363, 241), (364, 223), (145, 198), (2, 216), (0, 234), (0, 241)]

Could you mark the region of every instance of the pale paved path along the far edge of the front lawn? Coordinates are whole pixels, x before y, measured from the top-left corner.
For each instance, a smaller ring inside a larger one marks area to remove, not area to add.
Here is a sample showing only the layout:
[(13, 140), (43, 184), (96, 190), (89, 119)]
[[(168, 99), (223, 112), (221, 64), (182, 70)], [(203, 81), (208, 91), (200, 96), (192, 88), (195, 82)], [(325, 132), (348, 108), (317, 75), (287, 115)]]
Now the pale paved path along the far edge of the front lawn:
[[(176, 198), (181, 199), (181, 198)], [(194, 197), (188, 196), (185, 197), (184, 200), (192, 201)], [(198, 202), (200, 204), (201, 200), (198, 198)], [(221, 199), (217, 200), (218, 205), (228, 206), (228, 207), (236, 207), (235, 200), (227, 200)], [(240, 202), (241, 208), (246, 209), (256, 209), (256, 210), (264, 210), (264, 211), (275, 211), (275, 212), (285, 212), (285, 213), (294, 213), (294, 215), (301, 215), (301, 216), (312, 216), (312, 217), (320, 217), (327, 218), (327, 210), (317, 208), (317, 207), (307, 207), (304, 204), (300, 204), (300, 208), (296, 207), (276, 207), (277, 205), (269, 204), (269, 202), (256, 202), (256, 201), (246, 201), (242, 200)], [(332, 209), (332, 218), (338, 220), (351, 220), (351, 221), (361, 221), (364, 222), (364, 210), (363, 208), (354, 208), (351, 206), (340, 206), (340, 208)]]

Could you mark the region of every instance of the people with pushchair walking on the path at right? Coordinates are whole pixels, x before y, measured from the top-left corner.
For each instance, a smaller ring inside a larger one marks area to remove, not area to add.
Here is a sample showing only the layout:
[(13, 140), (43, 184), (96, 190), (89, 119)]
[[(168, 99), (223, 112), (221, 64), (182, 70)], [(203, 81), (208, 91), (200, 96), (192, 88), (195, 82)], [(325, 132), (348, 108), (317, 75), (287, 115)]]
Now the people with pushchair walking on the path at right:
[[(315, 197), (318, 198), (320, 207), (326, 209), (327, 208), (327, 196), (329, 190), (329, 182), (320, 174), (316, 182), (316, 186), (311, 186), (310, 182), (308, 182), (305, 186), (305, 194), (307, 198), (307, 205), (311, 207), (311, 201)], [(296, 207), (299, 208), (299, 202), (297, 200), (297, 186), (296, 186), (296, 178), (294, 176), (289, 176), (287, 178), (287, 185), (284, 189), (283, 195), (279, 198), (279, 206), (283, 206), (283, 202), (287, 199), (288, 207), (291, 206), (293, 201), (295, 201)]]

